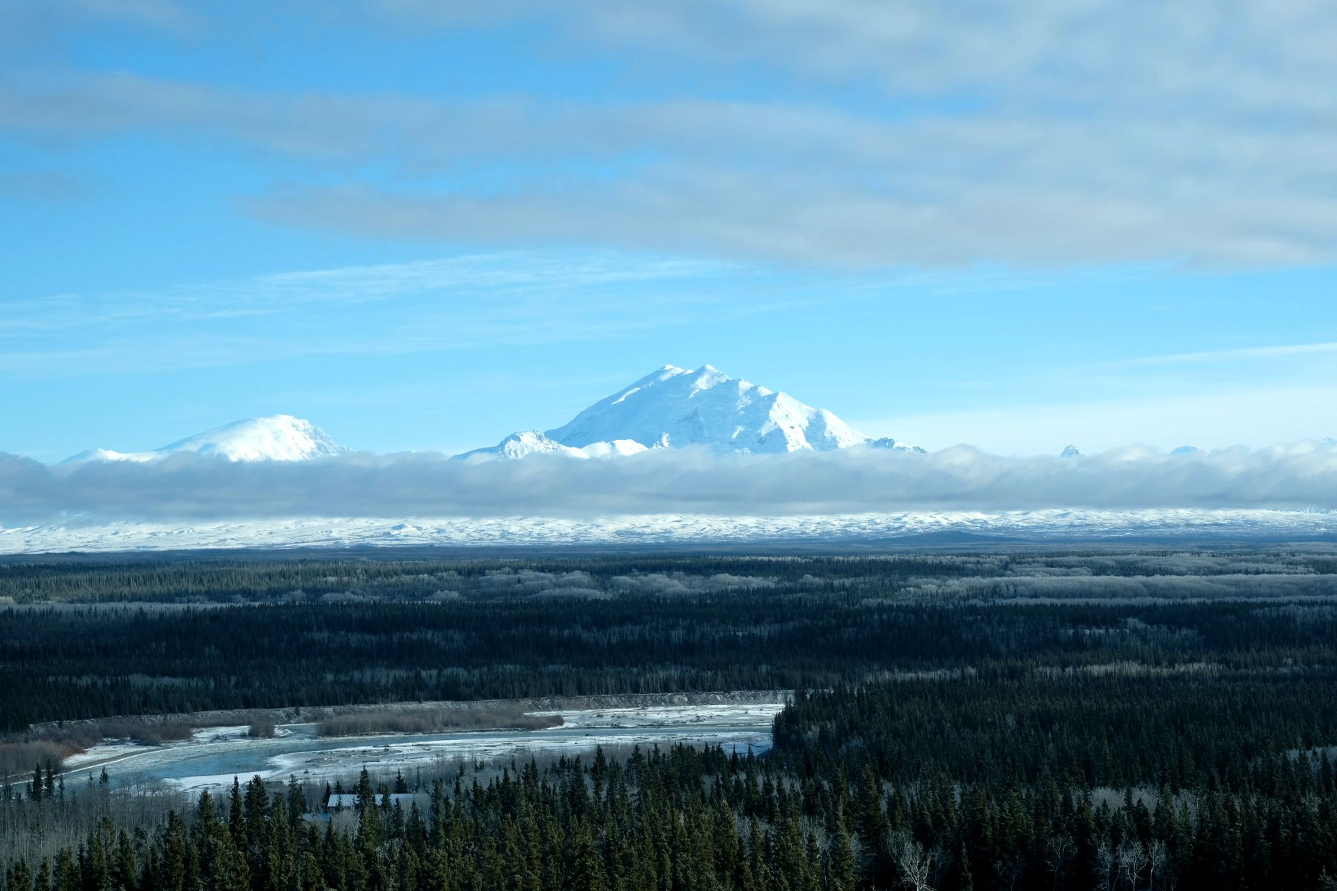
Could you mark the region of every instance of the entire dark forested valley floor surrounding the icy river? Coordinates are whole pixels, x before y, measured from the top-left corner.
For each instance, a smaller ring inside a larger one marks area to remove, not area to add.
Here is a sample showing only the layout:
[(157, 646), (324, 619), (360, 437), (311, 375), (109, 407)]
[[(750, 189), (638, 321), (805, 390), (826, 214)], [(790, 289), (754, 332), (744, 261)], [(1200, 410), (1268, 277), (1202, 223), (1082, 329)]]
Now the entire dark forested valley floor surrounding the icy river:
[[(0, 564), (0, 888), (1326, 890), (1334, 573), (1322, 549)], [(729, 689), (797, 691), (769, 752), (189, 801), (59, 776), (63, 724), (112, 716)]]

